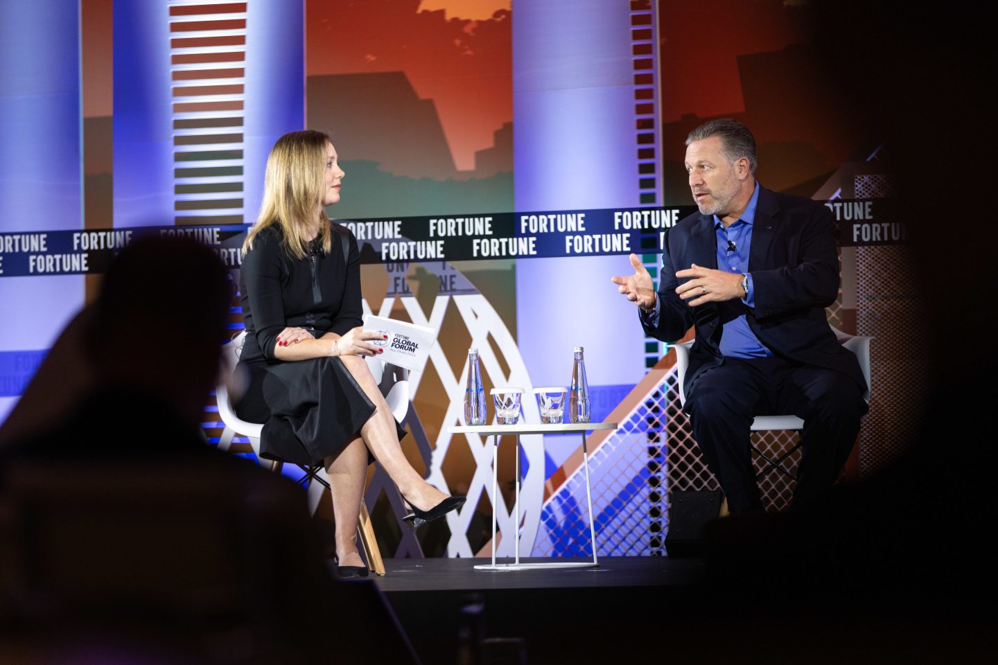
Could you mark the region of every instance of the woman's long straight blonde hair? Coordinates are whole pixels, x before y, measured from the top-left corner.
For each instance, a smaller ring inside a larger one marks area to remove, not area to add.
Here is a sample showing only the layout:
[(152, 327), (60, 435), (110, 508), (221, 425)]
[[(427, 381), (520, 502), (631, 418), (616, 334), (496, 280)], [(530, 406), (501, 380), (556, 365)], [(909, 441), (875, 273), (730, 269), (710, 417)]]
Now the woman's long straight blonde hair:
[[(252, 248), (261, 231), (277, 226), (283, 234), (284, 251), (294, 258), (308, 255), (308, 240), (318, 222), (317, 239), (322, 251), (331, 246), (329, 218), (321, 206), (325, 191), (326, 144), (328, 135), (314, 130), (285, 134), (270, 149), (263, 179), (263, 201), (256, 223), (247, 233), (243, 251)], [(315, 219), (315, 208), (320, 212)]]

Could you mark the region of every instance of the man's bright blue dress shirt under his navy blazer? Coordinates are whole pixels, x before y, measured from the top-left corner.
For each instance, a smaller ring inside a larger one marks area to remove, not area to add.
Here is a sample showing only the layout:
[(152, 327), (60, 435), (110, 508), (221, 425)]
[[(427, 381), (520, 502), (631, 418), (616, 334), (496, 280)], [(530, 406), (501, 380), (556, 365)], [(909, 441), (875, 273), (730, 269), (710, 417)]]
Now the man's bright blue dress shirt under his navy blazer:
[[(755, 221), (755, 206), (758, 204), (758, 183), (752, 191), (749, 205), (742, 216), (727, 228), (718, 215), (714, 215), (714, 229), (718, 238), (718, 269), (749, 275), (749, 294), (740, 300), (730, 300), (718, 303), (721, 314), (721, 353), (728, 358), (769, 358), (772, 351), (762, 346), (755, 334), (749, 328), (746, 320), (746, 308), (755, 306), (755, 292), (752, 288), (749, 272), (749, 247), (751, 247), (751, 230)], [(735, 250), (729, 251), (728, 241), (735, 244)], [(689, 267), (689, 266), (687, 266)], [(706, 266), (705, 266), (706, 267)], [(655, 310), (642, 316), (653, 326), (658, 323), (662, 303), (655, 300)]]

